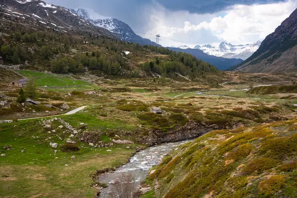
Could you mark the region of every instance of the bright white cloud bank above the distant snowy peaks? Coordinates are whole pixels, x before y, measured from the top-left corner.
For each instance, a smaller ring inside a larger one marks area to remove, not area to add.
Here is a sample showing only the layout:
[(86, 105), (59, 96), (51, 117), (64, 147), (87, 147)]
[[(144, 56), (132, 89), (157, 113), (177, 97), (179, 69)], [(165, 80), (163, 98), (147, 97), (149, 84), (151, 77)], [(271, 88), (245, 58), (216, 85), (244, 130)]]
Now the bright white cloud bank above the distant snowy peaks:
[[(160, 5), (158, 5), (160, 7)], [(195, 44), (210, 44), (226, 41), (232, 44), (246, 44), (263, 40), (274, 32), (282, 21), (296, 9), (297, 0), (271, 4), (234, 5), (224, 12), (215, 14), (191, 14), (188, 11), (168, 11), (164, 7), (150, 8), (150, 30), (148, 34), (160, 34), (163, 46), (183, 45), (170, 41), (174, 39)], [(199, 35), (205, 30), (209, 34)], [(153, 36), (150, 37), (153, 40)], [(210, 39), (211, 40), (211, 39)], [(205, 42), (204, 42), (205, 41)]]

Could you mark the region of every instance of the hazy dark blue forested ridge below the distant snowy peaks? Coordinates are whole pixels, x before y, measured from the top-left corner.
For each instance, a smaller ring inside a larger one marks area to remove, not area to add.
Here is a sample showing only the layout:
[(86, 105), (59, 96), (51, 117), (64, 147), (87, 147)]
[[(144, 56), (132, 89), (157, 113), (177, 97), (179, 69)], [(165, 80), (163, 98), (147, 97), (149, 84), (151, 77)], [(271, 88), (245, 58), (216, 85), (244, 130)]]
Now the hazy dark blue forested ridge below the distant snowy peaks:
[(184, 53), (190, 53), (194, 56), (196, 56), (198, 59), (201, 59), (203, 61), (209, 62), (210, 64), (216, 66), (220, 70), (226, 70), (233, 65), (237, 65), (241, 63), (242, 59), (237, 58), (223, 58), (223, 57), (217, 57), (214, 55), (208, 55), (204, 53), (202, 50), (199, 49), (180, 49), (180, 48), (167, 48), (173, 51), (181, 51)]

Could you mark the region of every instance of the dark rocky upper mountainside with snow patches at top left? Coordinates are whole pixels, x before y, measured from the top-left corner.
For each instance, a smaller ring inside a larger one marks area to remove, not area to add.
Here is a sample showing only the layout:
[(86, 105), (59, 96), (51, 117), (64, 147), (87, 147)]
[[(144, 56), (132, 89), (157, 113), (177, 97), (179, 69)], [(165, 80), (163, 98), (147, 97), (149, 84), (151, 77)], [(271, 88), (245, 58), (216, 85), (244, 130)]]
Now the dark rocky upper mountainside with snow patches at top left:
[[(112, 36), (108, 30), (97, 27), (65, 7), (52, 5), (42, 0), (1, 0), (1, 20), (14, 21), (34, 27), (51, 28), (63, 32), (88, 32)], [(9, 28), (1, 24), (1, 28)]]

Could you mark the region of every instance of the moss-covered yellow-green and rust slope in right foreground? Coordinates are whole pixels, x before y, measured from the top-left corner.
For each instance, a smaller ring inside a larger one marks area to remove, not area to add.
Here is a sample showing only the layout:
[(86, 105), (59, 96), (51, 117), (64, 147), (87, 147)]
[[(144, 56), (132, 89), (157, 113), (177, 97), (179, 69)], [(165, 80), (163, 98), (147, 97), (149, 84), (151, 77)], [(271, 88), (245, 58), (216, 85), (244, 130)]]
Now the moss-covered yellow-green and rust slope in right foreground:
[(296, 198), (297, 119), (213, 131), (148, 176), (156, 197)]

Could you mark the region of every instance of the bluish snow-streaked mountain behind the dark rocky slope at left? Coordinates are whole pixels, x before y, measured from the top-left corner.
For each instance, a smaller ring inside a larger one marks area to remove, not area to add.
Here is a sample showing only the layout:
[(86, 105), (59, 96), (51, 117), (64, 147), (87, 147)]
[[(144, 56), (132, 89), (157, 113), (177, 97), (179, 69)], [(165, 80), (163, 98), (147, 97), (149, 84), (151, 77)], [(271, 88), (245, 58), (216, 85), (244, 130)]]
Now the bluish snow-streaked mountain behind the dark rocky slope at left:
[(71, 11), (90, 23), (109, 30), (124, 41), (140, 45), (155, 45), (155, 43), (149, 39), (136, 35), (128, 24), (116, 18), (102, 16), (94, 10), (87, 8), (76, 8), (71, 9)]

